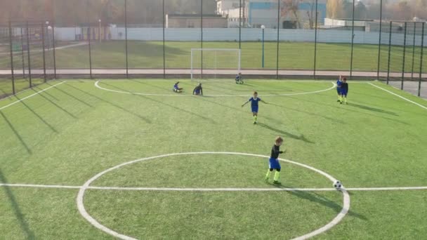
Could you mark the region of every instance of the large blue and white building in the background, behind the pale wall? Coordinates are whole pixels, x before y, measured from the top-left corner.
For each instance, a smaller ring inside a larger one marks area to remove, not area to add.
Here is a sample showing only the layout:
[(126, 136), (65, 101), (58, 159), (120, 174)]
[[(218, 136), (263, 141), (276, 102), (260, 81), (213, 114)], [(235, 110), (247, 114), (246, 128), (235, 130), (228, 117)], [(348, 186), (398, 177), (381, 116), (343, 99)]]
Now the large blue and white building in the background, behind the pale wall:
[[(277, 0), (216, 0), (217, 13), (228, 18), (228, 27), (261, 27), (310, 29), (315, 25), (315, 1), (298, 4), (298, 11), (280, 11), (277, 26)], [(240, 2), (242, 6), (240, 8)], [(237, 6), (237, 7), (236, 7)], [(326, 18), (327, 0), (317, 1), (317, 23), (321, 25)], [(240, 19), (242, 18), (242, 19)]]

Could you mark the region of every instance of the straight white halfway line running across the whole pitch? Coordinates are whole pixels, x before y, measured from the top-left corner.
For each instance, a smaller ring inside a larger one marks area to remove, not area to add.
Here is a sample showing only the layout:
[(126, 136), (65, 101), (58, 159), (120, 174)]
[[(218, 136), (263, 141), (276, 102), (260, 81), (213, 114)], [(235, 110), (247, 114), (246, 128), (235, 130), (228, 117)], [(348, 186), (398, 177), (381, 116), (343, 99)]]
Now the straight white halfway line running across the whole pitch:
[[(32, 187), (32, 188), (55, 188), (55, 189), (80, 189), (83, 186), (67, 185), (34, 185), (34, 184), (12, 184), (0, 183), (0, 187)], [(170, 191), (170, 192), (331, 192), (336, 191), (334, 188), (289, 188), (289, 187), (222, 187), (222, 188), (195, 188), (195, 187), (93, 187), (87, 189), (97, 190), (116, 190), (116, 191)], [(427, 187), (349, 187), (350, 192), (359, 191), (405, 191), (405, 190), (427, 190)]]

